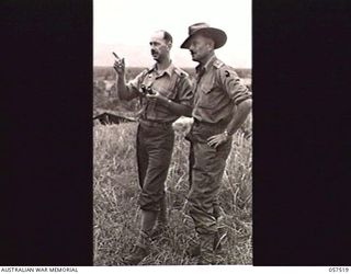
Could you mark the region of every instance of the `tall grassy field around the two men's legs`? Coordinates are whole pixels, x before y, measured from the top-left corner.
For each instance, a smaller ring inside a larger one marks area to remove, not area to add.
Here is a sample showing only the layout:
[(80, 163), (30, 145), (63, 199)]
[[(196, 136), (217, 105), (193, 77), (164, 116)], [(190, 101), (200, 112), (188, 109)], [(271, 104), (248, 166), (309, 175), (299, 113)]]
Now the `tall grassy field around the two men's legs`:
[[(93, 127), (94, 265), (122, 265), (139, 229), (136, 123)], [(186, 213), (189, 123), (174, 124), (176, 144), (168, 173), (170, 230), (154, 241), (141, 265), (188, 265), (185, 249), (195, 239)], [(252, 264), (251, 119), (235, 136), (220, 191), (229, 250), (224, 264)]]

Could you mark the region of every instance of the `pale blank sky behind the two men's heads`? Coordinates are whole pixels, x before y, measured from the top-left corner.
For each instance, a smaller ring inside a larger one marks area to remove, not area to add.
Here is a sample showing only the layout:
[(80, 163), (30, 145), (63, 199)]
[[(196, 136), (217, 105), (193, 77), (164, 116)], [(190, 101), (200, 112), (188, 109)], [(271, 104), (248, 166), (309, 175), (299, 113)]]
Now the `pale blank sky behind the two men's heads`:
[(227, 34), (216, 55), (235, 68), (251, 68), (250, 0), (94, 0), (94, 66), (112, 66), (115, 52), (128, 67), (151, 66), (149, 38), (166, 30), (173, 36), (171, 59), (179, 67), (194, 67), (189, 50), (180, 45), (190, 25), (206, 22)]

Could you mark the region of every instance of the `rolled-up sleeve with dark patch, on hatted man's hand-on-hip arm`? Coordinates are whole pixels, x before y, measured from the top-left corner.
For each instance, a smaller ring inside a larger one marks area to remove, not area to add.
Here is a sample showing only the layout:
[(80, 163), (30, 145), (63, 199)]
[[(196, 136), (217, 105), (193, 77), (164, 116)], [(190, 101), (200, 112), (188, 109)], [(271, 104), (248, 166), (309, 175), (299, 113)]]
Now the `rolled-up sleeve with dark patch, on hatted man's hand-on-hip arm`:
[(250, 90), (242, 83), (237, 72), (230, 67), (222, 67), (219, 69), (219, 81), (229, 98), (236, 105), (251, 98)]

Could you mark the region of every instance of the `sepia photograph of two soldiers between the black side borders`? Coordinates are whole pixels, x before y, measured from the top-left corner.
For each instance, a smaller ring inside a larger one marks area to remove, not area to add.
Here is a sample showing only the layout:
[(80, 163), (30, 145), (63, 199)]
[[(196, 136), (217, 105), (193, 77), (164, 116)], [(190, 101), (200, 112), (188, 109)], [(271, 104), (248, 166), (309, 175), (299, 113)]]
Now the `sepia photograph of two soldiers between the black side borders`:
[(93, 2), (93, 264), (252, 264), (251, 1)]

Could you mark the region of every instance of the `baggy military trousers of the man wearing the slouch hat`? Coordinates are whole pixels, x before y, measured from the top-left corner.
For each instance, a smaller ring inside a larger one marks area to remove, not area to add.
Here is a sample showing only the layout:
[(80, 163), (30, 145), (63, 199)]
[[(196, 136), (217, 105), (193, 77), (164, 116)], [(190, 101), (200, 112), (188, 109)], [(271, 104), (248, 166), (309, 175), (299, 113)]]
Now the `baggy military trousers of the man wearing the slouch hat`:
[(197, 139), (190, 138), (189, 213), (197, 233), (214, 235), (217, 232), (218, 195), (231, 138), (217, 148)]

